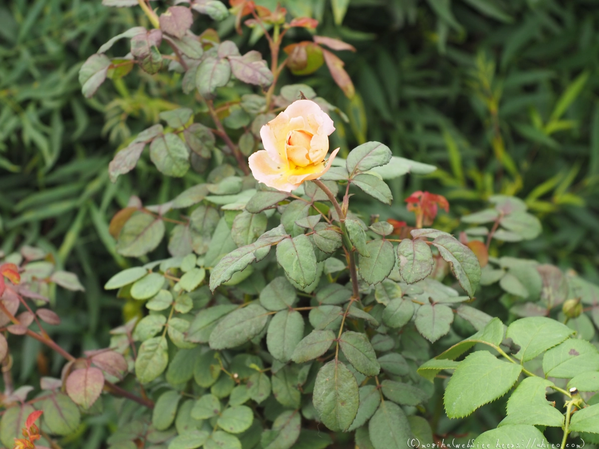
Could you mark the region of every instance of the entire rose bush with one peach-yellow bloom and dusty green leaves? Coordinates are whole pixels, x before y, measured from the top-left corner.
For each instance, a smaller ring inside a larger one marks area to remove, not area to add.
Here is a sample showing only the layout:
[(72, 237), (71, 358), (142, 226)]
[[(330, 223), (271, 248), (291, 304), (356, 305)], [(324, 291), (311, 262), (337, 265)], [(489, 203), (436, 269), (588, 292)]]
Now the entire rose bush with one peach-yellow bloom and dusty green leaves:
[[(264, 33), (269, 68), (194, 27), (196, 13), (225, 17), (220, 2), (140, 5), (155, 29), (117, 36), (81, 70), (88, 96), (107, 80), (123, 90), (134, 68), (184, 93), (108, 165), (117, 183), (144, 171), (163, 181), (156, 204), (122, 193), (105, 229), (134, 265), (104, 285), (128, 320), (104, 348), (66, 350), (43, 306), (57, 286), (82, 290), (77, 277), (40, 248), (3, 257), (4, 372), (22, 335), (66, 360), (55, 378), (4, 395), (5, 446), (74, 446), (107, 419), (118, 424), (111, 449), (594, 441), (597, 287), (515, 257), (510, 242), (541, 232), (526, 202), (490, 195), (488, 209), (448, 227), (444, 196), (395, 194), (404, 175), (420, 183), (434, 166), (374, 141), (325, 160), (343, 114), (310, 86), (277, 85), (288, 63), (309, 71), (305, 41), (283, 62), (278, 51), (314, 20), (232, 2), (237, 28), (251, 15), (244, 23)], [(117, 39), (131, 39), (131, 54), (107, 56)], [(316, 44), (351, 48), (314, 43), (310, 55), (354, 101), (343, 63)]]

